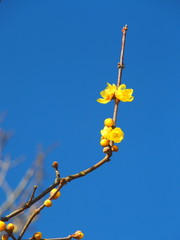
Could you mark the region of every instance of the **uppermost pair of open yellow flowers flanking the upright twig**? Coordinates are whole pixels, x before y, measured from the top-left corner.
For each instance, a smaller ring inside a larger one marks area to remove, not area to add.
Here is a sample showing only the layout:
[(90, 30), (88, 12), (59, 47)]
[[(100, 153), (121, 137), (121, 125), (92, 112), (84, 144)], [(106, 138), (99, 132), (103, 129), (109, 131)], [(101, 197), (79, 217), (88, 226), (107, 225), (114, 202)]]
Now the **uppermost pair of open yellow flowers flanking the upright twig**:
[(126, 89), (125, 84), (121, 84), (118, 88), (115, 84), (107, 83), (106, 89), (100, 92), (102, 98), (98, 98), (97, 102), (106, 104), (112, 99), (117, 99), (121, 102), (132, 102), (133, 89)]

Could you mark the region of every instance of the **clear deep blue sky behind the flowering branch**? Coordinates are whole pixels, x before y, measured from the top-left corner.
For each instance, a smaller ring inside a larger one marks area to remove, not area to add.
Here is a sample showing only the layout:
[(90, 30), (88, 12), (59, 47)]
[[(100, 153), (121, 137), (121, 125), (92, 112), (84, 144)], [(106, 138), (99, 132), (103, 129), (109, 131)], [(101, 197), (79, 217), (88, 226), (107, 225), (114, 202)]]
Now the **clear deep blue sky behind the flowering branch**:
[[(46, 158), (44, 188), (104, 155), (103, 121), (113, 104), (96, 102), (116, 83), (121, 29), (128, 24), (122, 82), (135, 100), (120, 104), (125, 132), (112, 161), (62, 189), (36, 229), (45, 238), (81, 229), (87, 240), (180, 239), (180, 3), (178, 0), (2, 0), (0, 112), (14, 136), (6, 149), (26, 161), (38, 144), (59, 143)], [(30, 237), (30, 236), (29, 236)]]

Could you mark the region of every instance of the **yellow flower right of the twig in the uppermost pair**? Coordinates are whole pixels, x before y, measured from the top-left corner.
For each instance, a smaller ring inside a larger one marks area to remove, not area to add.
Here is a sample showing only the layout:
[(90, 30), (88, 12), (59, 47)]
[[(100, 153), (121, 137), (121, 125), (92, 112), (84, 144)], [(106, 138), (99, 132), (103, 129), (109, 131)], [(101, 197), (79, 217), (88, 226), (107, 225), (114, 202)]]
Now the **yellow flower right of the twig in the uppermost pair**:
[(134, 97), (132, 96), (133, 91), (133, 89), (126, 89), (125, 84), (121, 84), (116, 90), (115, 96), (118, 100), (122, 102), (132, 102), (132, 100), (134, 99)]

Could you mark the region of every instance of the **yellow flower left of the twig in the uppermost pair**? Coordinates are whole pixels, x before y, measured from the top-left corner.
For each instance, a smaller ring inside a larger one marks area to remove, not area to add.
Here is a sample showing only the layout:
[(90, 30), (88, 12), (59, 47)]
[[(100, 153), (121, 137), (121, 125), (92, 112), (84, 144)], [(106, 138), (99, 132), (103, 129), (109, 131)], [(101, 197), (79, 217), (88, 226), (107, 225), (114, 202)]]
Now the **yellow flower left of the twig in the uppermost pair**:
[(102, 98), (98, 98), (97, 102), (103, 103), (103, 104), (110, 102), (114, 97), (115, 91), (116, 91), (116, 85), (107, 83), (106, 89), (100, 92), (100, 95)]

